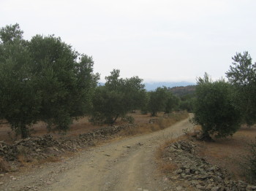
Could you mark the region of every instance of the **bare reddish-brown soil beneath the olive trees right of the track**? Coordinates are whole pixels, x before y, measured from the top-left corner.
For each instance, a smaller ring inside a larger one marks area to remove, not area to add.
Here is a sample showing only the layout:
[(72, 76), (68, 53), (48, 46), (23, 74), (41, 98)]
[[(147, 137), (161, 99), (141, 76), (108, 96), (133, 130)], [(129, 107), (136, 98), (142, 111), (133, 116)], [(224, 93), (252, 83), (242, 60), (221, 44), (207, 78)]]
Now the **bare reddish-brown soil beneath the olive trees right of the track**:
[(234, 179), (246, 181), (242, 163), (246, 155), (249, 155), (249, 144), (255, 142), (256, 125), (242, 127), (232, 137), (216, 139), (214, 142), (197, 141), (199, 155), (219, 167), (227, 169)]

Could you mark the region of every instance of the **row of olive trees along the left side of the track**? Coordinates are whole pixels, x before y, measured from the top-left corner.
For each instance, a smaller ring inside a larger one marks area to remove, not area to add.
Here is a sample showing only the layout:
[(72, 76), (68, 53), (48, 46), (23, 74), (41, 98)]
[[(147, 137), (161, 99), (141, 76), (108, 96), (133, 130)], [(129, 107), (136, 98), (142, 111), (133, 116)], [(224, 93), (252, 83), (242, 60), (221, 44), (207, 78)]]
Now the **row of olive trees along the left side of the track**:
[(146, 92), (143, 79), (123, 79), (118, 69), (99, 85), (93, 58), (54, 35), (26, 40), (16, 23), (2, 27), (0, 39), (0, 117), (22, 138), (38, 121), (49, 130), (68, 130), (85, 115), (94, 124), (113, 125), (135, 109), (155, 116), (178, 108), (179, 99), (167, 87)]

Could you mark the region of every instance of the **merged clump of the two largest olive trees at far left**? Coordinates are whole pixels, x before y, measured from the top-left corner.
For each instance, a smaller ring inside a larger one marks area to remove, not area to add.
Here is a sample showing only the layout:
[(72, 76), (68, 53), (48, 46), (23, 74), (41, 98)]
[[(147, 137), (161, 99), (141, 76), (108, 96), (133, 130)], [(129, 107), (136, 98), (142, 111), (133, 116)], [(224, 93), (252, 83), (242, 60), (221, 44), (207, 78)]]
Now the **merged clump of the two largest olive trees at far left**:
[(67, 130), (72, 117), (91, 108), (99, 79), (94, 62), (55, 36), (26, 42), (22, 34), (18, 24), (0, 30), (0, 117), (23, 138), (38, 120)]

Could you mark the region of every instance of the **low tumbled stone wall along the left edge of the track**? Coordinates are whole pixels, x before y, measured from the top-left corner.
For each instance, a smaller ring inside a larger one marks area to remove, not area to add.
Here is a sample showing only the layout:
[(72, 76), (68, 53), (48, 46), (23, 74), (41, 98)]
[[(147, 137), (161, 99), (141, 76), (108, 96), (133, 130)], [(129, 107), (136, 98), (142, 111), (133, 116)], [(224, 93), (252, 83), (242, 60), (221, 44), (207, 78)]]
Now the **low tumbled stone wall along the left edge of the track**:
[(14, 144), (0, 141), (0, 157), (6, 161), (17, 161), (19, 155), (26, 156), (26, 160), (39, 160), (49, 156), (56, 156), (65, 151), (76, 151), (80, 148), (94, 145), (95, 141), (110, 139), (125, 128), (135, 128), (136, 125), (121, 125), (100, 128), (89, 133), (80, 134), (78, 137), (65, 137), (53, 139), (51, 135), (42, 137), (29, 137), (20, 139)]

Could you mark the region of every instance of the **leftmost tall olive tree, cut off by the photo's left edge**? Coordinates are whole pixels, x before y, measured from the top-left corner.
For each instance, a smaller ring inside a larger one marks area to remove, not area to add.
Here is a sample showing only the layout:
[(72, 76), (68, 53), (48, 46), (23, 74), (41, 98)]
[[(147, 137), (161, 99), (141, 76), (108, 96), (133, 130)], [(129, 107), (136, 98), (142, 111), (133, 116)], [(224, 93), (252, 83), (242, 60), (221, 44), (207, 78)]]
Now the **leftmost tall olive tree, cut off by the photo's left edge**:
[(0, 31), (0, 116), (25, 138), (29, 136), (27, 126), (39, 117), (41, 96), (32, 72), (31, 54), (18, 36), (23, 32), (16, 33), (14, 28), (19, 29), (15, 25)]

